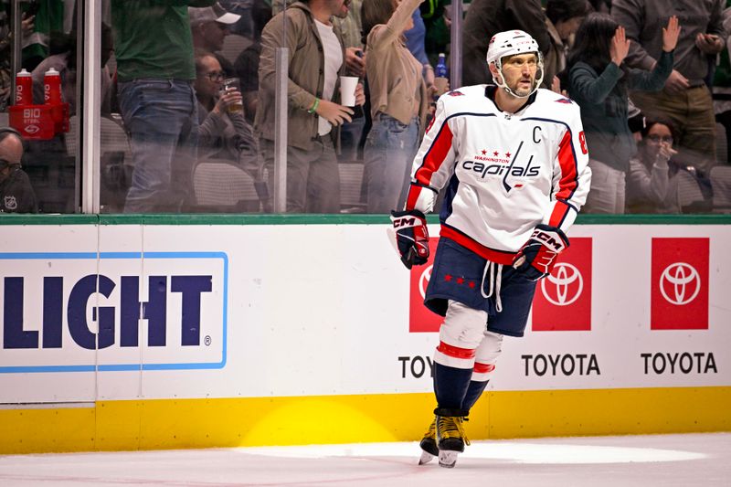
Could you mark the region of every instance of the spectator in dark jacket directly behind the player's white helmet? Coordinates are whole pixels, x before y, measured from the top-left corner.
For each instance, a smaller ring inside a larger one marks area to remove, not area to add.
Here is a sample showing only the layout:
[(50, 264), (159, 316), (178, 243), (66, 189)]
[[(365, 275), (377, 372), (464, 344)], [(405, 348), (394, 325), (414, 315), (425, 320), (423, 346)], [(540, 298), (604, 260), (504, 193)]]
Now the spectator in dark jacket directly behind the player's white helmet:
[(519, 29), (530, 34), (546, 54), (551, 38), (540, 0), (474, 0), (462, 28), (462, 84), (490, 84), (493, 77), (485, 56), (498, 32)]

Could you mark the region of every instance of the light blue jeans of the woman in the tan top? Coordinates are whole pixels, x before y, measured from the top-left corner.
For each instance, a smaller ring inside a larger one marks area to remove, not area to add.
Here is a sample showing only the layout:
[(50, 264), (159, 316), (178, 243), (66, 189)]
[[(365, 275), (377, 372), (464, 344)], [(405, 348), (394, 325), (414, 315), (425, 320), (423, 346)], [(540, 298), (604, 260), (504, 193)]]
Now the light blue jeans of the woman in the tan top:
[(418, 118), (405, 125), (376, 113), (363, 149), (368, 213), (389, 213), (404, 206), (417, 149)]

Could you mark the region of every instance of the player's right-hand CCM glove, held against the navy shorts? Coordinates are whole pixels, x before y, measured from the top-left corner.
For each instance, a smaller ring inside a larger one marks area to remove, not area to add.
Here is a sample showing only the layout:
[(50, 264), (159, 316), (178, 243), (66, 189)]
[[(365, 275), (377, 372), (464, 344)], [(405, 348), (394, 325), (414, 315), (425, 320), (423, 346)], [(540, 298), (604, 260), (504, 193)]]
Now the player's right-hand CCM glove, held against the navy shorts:
[(558, 254), (567, 247), (568, 238), (560, 228), (540, 224), (518, 250), (513, 259), (513, 268), (524, 272), (529, 280), (538, 281), (551, 273)]

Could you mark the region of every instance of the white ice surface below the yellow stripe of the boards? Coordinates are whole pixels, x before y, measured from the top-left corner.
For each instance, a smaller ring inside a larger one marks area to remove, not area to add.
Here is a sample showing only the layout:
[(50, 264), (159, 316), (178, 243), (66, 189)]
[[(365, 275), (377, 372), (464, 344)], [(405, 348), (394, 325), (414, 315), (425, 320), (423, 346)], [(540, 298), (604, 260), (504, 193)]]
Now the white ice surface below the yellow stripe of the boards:
[(0, 457), (0, 486), (729, 486), (731, 433), (473, 441), (454, 469), (416, 442)]

